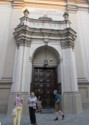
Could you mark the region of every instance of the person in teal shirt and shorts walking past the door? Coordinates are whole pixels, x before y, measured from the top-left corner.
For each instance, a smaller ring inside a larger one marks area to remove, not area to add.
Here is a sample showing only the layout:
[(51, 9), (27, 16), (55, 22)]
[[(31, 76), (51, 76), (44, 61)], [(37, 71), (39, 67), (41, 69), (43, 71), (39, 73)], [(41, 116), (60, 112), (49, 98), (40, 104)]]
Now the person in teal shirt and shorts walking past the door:
[(56, 118), (54, 119), (55, 121), (58, 120), (58, 114), (60, 113), (62, 116), (62, 120), (64, 119), (64, 114), (60, 110), (60, 94), (58, 94), (57, 90), (54, 90), (54, 95), (55, 95), (55, 111), (56, 111)]

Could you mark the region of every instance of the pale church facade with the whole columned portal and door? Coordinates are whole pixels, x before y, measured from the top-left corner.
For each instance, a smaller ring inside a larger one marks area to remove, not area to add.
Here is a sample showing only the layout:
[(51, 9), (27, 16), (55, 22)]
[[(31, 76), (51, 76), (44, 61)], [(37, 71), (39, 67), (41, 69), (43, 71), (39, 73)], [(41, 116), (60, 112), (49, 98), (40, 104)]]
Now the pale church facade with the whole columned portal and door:
[(0, 10), (0, 112), (11, 113), (18, 91), (24, 114), (31, 91), (54, 108), (54, 89), (65, 113), (89, 108), (88, 2), (1, 0)]

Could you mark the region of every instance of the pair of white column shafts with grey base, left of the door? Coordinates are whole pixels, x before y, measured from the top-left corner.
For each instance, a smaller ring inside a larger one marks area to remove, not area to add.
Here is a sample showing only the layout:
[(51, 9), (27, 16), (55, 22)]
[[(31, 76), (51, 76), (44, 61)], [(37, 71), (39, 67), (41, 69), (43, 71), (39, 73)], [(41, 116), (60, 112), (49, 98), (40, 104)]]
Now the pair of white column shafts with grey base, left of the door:
[(16, 92), (20, 91), (24, 98), (23, 113), (28, 114), (27, 100), (30, 93), (32, 61), (29, 60), (30, 46), (19, 45), (16, 49), (15, 67), (13, 72), (13, 83), (11, 95), (9, 96), (8, 115), (14, 107)]

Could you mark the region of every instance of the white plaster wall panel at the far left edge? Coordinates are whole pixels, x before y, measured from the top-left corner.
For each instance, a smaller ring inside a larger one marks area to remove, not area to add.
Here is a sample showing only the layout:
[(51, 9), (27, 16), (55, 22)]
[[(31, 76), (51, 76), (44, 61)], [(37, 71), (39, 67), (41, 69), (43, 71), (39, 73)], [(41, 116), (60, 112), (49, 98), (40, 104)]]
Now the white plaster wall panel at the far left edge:
[(0, 5), (0, 79), (3, 77), (11, 14), (11, 5)]

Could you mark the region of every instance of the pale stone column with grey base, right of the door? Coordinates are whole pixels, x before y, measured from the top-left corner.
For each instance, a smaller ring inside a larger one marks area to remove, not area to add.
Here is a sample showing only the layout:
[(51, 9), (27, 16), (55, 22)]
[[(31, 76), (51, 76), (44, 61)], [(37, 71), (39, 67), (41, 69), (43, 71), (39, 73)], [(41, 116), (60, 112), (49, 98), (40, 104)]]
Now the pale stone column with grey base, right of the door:
[(73, 41), (62, 41), (62, 108), (65, 113), (82, 111), (81, 96), (78, 91)]

